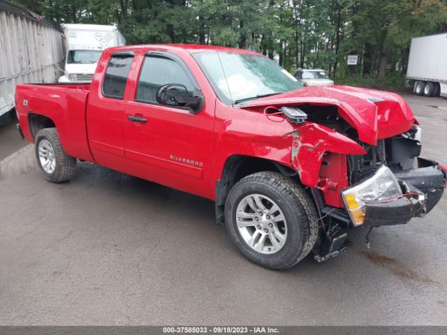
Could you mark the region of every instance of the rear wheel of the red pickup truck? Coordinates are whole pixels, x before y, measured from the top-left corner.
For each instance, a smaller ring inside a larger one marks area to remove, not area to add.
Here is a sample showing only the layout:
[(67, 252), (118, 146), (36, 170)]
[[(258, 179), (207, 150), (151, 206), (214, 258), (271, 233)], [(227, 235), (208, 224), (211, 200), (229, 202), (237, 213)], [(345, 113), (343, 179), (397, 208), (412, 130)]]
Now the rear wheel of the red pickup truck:
[(56, 128), (45, 128), (36, 135), (36, 158), (43, 176), (52, 183), (71, 179), (76, 173), (76, 158), (62, 148)]

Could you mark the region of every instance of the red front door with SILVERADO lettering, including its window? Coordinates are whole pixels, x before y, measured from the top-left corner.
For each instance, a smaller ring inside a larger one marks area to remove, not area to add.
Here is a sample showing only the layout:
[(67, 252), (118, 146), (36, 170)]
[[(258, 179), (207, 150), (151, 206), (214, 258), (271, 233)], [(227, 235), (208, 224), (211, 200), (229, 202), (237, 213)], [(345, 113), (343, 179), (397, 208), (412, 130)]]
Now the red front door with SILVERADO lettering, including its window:
[(205, 101), (195, 112), (160, 105), (156, 92), (166, 84), (182, 84), (191, 96), (200, 91), (182, 59), (169, 52), (148, 52), (135, 95), (126, 105), (126, 160), (138, 177), (208, 196), (214, 103)]

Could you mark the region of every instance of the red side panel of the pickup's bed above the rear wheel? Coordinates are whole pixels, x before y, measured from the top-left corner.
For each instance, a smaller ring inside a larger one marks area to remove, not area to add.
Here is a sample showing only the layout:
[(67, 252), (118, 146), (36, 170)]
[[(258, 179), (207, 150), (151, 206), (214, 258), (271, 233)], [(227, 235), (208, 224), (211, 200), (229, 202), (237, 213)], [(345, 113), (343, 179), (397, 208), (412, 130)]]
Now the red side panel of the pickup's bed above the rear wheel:
[(93, 161), (85, 122), (89, 87), (90, 84), (18, 84), (15, 105), (24, 137), (34, 142), (34, 124), (45, 122), (48, 117), (57, 127), (68, 155)]

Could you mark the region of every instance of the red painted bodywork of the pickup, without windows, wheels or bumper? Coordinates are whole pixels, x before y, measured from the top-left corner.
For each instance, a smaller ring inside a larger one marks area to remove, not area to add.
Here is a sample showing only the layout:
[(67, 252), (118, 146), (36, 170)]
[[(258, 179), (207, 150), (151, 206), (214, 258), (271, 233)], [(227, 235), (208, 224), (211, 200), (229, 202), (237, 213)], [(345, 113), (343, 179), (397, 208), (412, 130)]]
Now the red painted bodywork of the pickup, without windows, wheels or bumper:
[[(135, 52), (124, 99), (107, 98), (101, 93), (105, 68), (112, 52), (124, 50)], [(184, 61), (202, 90), (203, 110), (190, 114), (134, 101), (142, 61), (149, 50), (171, 52)], [(302, 184), (320, 188), (327, 204), (342, 207), (340, 191), (348, 186), (346, 154), (365, 154), (362, 147), (318, 124), (297, 126), (280, 115), (267, 117), (263, 107), (336, 105), (339, 114), (357, 129), (360, 140), (369, 144), (408, 131), (416, 122), (400, 96), (353, 87), (307, 87), (244, 107), (224, 105), (191, 56), (207, 50), (254, 54), (204, 45), (111, 48), (103, 53), (90, 85), (17, 85), (22, 131), (33, 142), (28, 115), (44, 115), (57, 126), (67, 154), (212, 200), (228, 157), (265, 158), (297, 170)], [(137, 124), (129, 121), (131, 115), (148, 121)]]

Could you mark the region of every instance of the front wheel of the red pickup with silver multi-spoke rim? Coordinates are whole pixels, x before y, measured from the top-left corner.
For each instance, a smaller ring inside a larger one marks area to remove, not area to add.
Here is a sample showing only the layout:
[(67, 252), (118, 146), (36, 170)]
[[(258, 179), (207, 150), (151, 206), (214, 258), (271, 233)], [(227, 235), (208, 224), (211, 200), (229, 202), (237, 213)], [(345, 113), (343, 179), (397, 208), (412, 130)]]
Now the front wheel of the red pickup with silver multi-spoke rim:
[(304, 188), (277, 172), (258, 172), (228, 194), (226, 227), (242, 254), (269, 269), (288, 269), (312, 250), (318, 231)]

